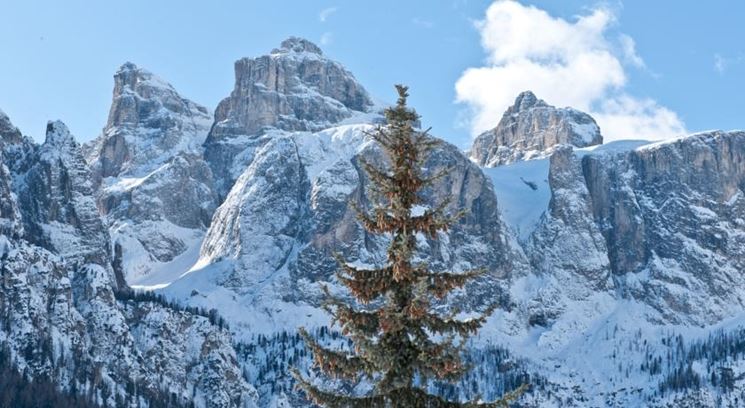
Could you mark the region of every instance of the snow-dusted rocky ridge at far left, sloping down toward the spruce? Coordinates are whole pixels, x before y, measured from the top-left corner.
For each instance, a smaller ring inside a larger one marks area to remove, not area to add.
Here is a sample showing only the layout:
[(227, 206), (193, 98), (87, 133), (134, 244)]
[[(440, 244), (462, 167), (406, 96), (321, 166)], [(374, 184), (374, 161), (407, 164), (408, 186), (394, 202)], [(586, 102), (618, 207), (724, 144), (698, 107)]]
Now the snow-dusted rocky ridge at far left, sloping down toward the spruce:
[(229, 333), (116, 281), (92, 177), (64, 124), (50, 122), (23, 159), (22, 172), (0, 161), (0, 344), (13, 364), (99, 404), (252, 404)]

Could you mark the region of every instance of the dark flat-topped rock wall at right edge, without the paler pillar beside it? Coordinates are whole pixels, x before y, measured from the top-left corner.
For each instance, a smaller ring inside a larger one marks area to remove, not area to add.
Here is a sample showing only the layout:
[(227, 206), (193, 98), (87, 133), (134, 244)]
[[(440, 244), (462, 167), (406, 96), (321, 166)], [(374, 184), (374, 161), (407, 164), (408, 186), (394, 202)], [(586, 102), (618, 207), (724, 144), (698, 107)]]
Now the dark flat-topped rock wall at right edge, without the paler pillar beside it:
[(583, 159), (611, 269), (660, 320), (713, 323), (745, 304), (745, 132)]

